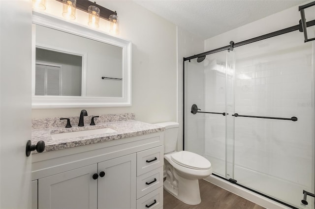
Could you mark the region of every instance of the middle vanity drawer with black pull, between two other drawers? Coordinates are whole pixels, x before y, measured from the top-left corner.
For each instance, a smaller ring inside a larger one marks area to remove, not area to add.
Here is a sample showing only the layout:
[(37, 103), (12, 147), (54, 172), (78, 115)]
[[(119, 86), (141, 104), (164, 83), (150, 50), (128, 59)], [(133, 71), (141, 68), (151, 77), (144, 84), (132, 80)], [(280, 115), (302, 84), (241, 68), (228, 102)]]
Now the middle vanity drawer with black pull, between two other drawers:
[(163, 185), (163, 166), (137, 177), (137, 199)]

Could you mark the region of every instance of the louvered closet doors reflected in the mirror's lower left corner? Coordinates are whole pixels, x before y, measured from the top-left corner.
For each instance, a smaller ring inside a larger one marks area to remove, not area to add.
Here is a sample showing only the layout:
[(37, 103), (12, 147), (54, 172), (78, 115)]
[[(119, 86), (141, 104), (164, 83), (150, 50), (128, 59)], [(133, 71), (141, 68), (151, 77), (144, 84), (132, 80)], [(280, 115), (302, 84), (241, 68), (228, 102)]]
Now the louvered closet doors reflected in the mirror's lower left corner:
[(60, 81), (60, 67), (36, 64), (35, 95), (62, 95)]

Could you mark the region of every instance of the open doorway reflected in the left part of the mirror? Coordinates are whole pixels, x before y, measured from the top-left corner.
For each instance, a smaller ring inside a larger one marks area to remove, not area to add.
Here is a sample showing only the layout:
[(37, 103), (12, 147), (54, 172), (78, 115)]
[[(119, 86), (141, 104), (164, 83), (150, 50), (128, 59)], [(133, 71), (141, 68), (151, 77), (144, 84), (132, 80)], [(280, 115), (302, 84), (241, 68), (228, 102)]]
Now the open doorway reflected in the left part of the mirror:
[(81, 96), (82, 56), (36, 48), (35, 95)]

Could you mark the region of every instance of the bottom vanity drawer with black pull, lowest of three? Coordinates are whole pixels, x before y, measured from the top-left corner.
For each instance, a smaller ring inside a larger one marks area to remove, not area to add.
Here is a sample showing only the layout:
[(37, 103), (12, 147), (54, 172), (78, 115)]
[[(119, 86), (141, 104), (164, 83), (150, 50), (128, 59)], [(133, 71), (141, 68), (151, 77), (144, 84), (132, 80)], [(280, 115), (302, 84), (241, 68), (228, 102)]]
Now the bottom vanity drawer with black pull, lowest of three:
[(161, 208), (163, 208), (163, 186), (137, 200), (137, 209)]

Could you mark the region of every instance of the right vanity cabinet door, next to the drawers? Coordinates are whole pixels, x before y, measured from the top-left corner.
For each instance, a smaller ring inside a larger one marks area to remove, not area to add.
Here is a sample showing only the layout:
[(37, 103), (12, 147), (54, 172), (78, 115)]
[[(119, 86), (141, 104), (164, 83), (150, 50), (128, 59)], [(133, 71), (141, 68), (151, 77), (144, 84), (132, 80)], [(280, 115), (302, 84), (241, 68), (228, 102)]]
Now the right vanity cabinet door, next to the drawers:
[(98, 209), (136, 208), (136, 154), (98, 163)]

